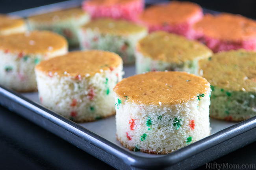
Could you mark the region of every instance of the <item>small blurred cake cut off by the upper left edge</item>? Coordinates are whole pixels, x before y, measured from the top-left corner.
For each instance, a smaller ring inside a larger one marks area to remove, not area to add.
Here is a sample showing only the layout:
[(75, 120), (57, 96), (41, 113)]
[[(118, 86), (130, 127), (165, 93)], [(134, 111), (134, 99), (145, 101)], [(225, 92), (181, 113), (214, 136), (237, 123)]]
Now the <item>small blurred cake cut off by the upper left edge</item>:
[(26, 29), (24, 19), (0, 14), (0, 35), (23, 33)]

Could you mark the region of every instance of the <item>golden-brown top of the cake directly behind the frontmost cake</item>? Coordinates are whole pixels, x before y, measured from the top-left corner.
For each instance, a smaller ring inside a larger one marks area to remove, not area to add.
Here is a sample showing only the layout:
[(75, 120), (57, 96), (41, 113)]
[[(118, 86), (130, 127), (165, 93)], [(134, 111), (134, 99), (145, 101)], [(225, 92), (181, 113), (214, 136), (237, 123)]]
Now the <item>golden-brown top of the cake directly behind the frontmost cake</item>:
[(157, 31), (143, 38), (137, 48), (145, 57), (165, 62), (180, 63), (212, 55), (212, 51), (200, 42), (165, 31)]

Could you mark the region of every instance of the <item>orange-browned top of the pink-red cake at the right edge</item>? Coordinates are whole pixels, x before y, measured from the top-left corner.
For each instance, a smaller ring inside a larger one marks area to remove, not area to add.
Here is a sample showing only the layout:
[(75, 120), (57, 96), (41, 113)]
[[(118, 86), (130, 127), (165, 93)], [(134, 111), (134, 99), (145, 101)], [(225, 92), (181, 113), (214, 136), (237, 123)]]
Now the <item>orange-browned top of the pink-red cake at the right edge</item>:
[(256, 37), (256, 22), (241, 15), (205, 15), (193, 28), (210, 38), (247, 40)]

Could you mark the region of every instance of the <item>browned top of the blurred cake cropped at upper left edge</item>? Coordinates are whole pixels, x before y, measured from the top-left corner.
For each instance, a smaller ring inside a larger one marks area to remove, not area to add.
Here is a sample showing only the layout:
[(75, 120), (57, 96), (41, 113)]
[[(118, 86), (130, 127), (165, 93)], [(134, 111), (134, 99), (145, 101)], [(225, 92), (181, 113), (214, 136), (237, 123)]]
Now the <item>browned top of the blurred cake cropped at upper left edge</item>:
[[(0, 14), (0, 31), (13, 29), (25, 24), (24, 19), (15, 19), (14, 17)], [(1, 34), (1, 33), (0, 33)]]

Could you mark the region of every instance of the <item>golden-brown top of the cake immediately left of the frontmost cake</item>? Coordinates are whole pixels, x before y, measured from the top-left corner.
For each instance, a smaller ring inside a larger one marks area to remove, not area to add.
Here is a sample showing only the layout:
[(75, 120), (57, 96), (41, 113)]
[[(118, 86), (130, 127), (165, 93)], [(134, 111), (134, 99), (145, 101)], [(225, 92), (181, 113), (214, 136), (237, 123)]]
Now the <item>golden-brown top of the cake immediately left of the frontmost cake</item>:
[(105, 70), (112, 71), (121, 63), (122, 59), (119, 55), (108, 51), (73, 51), (67, 55), (40, 62), (36, 70), (43, 71), (47, 75), (57, 72), (59, 76), (73, 76), (79, 79), (102, 73)]

